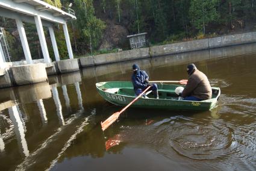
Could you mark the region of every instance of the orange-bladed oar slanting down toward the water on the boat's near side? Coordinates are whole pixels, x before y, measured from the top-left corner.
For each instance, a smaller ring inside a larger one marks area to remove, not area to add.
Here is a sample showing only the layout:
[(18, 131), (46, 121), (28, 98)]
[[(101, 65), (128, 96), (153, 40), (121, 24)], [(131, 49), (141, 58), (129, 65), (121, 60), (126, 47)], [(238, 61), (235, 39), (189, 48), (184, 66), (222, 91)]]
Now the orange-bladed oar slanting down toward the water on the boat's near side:
[(108, 126), (110, 126), (113, 122), (115, 122), (119, 115), (126, 110), (126, 108), (130, 107), (130, 105), (132, 105), (135, 101), (137, 101), (137, 99), (139, 99), (144, 93), (146, 93), (146, 91), (148, 91), (148, 89), (150, 89), (151, 86), (147, 87), (142, 93), (140, 93), (139, 96), (137, 96), (133, 101), (130, 102), (130, 104), (126, 105), (126, 107), (124, 107), (122, 110), (117, 111), (116, 113), (112, 114), (110, 117), (108, 117), (107, 120), (105, 120), (104, 122), (101, 122), (101, 129), (104, 131), (105, 129), (108, 128)]

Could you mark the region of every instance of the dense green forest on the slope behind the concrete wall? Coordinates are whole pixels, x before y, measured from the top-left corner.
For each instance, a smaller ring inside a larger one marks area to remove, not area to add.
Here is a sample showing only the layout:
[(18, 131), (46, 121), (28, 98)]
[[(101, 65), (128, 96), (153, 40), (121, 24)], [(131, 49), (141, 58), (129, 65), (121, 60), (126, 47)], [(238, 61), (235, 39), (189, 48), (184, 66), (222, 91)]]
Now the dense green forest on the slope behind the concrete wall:
[[(73, 53), (82, 55), (130, 49), (126, 36), (147, 33), (147, 46), (204, 39), (256, 30), (255, 0), (45, 0), (58, 8), (70, 5), (68, 22)], [(72, 3), (72, 4), (70, 4)], [(12, 61), (25, 59), (15, 20), (1, 17)], [(36, 26), (24, 23), (33, 59), (43, 58)], [(62, 26), (54, 25), (61, 59), (68, 57)], [(49, 54), (54, 52), (45, 28)]]

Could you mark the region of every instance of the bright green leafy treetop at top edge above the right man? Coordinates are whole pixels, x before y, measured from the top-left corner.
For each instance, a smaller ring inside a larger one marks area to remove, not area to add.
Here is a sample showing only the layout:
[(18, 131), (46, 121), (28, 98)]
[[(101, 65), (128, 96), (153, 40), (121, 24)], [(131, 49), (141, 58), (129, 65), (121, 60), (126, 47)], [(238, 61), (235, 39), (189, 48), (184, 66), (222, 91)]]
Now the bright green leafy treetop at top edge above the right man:
[(218, 0), (192, 0), (189, 14), (192, 24), (205, 34), (205, 26), (210, 22), (216, 22), (219, 15), (216, 11)]

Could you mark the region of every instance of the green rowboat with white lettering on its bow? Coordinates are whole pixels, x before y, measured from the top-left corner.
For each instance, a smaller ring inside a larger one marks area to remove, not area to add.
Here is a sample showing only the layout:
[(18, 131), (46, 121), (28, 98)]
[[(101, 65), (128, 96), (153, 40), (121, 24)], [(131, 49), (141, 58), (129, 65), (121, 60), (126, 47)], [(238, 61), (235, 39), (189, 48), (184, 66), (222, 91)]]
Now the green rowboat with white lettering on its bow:
[[(163, 109), (163, 110), (211, 110), (217, 105), (220, 96), (218, 87), (211, 87), (213, 95), (205, 101), (178, 100), (175, 93), (176, 87), (184, 85), (157, 84), (159, 99), (149, 93), (148, 98), (139, 98), (131, 107)], [(114, 105), (125, 106), (136, 98), (133, 84), (130, 81), (109, 81), (96, 83), (99, 94), (106, 101)]]

